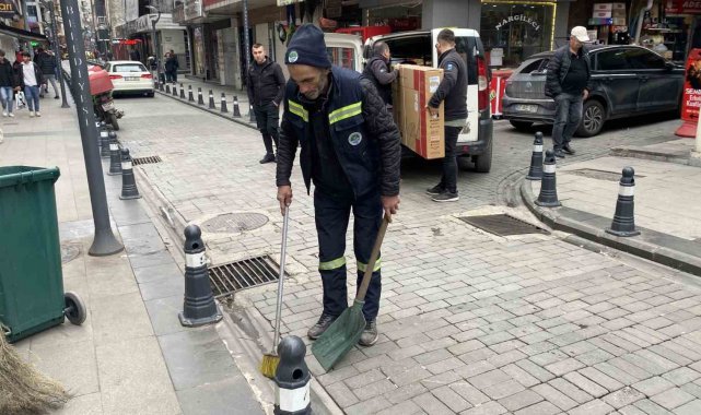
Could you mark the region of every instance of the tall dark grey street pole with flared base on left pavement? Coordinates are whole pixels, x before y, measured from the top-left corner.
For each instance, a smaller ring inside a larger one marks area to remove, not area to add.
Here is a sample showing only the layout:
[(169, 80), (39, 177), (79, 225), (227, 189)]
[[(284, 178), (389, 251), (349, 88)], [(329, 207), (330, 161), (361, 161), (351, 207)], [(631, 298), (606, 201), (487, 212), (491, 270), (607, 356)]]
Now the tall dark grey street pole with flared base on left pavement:
[(78, 0), (60, 0), (63, 27), (66, 29), (66, 44), (68, 46), (68, 60), (71, 67), (71, 83), (73, 85), (73, 100), (78, 112), (80, 138), (83, 144), (83, 157), (87, 173), (87, 189), (93, 210), (95, 237), (87, 251), (94, 257), (110, 256), (121, 252), (124, 246), (115, 238), (109, 224), (109, 210), (107, 194), (103, 179), (102, 162), (97, 152), (97, 128), (95, 114), (90, 95), (90, 79), (85, 62), (85, 47), (82, 43), (83, 34), (80, 25)]

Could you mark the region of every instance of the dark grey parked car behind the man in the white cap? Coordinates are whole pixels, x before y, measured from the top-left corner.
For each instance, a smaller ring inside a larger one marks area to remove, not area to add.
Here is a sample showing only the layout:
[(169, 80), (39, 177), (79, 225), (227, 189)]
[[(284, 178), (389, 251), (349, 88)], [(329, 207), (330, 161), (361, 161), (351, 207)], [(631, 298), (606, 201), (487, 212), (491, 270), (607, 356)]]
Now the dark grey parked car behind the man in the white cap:
[[(679, 110), (684, 68), (639, 46), (585, 47), (592, 58), (594, 87), (584, 102), (576, 135), (596, 135), (606, 121), (616, 118)], [(554, 100), (545, 95), (552, 56), (553, 51), (531, 56), (506, 81), (503, 118), (517, 129), (554, 121)]]

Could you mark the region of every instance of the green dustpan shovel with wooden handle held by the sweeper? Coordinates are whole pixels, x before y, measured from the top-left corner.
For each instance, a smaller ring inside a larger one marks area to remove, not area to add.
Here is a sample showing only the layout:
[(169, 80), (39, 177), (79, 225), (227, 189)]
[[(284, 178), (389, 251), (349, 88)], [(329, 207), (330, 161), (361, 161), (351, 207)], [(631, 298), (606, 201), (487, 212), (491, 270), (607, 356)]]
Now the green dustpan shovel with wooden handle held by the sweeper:
[(377, 257), (379, 257), (379, 247), (382, 247), (382, 240), (385, 238), (389, 222), (392, 222), (392, 217), (385, 214), (353, 305), (347, 308), (312, 345), (314, 357), (326, 371), (329, 371), (338, 360), (358, 344), (363, 330), (365, 330), (366, 321), (363, 315), (365, 294), (367, 293), (370, 278), (373, 275)]

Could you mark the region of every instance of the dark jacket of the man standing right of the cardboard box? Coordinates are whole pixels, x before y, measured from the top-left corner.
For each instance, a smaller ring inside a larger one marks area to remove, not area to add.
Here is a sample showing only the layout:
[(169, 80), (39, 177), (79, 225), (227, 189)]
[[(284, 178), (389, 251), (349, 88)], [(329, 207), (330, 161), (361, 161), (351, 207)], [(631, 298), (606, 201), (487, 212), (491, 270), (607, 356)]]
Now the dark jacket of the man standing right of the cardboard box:
[(437, 108), (445, 100), (446, 121), (467, 118), (467, 66), (455, 48), (439, 57), (439, 68), (443, 69), (443, 81), (429, 100), (429, 106)]

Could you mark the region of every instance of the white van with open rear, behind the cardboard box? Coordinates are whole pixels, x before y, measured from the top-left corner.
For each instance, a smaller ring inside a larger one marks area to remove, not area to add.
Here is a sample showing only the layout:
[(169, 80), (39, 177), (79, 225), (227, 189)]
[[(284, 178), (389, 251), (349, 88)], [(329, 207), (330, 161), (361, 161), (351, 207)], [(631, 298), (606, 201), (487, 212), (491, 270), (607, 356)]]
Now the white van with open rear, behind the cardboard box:
[[(472, 162), (475, 170), (488, 173), (492, 166), (492, 118), (489, 108), (489, 79), (484, 48), (479, 33), (471, 28), (452, 28), (455, 32), (455, 49), (467, 63), (467, 128), (457, 141), (458, 163), (467, 168)], [(355, 35), (327, 33), (325, 35), (329, 56), (335, 64), (362, 72), (364, 62), (372, 57), (375, 42), (389, 46), (392, 62), (414, 63), (437, 68), (435, 49), (441, 28), (432, 31), (401, 32), (369, 38), (364, 47)], [(362, 52), (361, 52), (362, 51)], [(362, 54), (362, 55), (361, 55)], [(362, 59), (360, 57), (362, 56)]]

